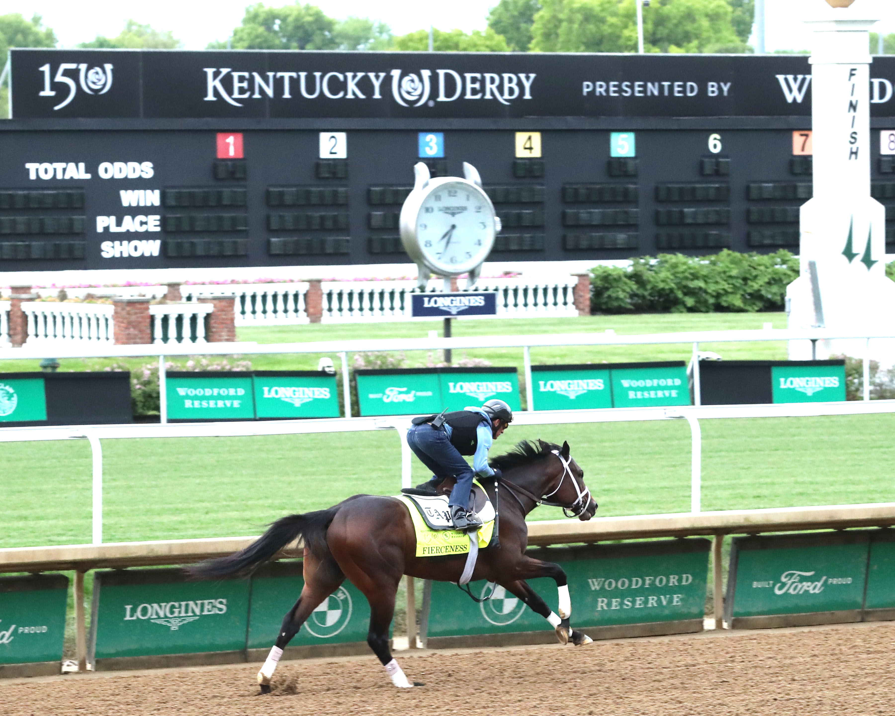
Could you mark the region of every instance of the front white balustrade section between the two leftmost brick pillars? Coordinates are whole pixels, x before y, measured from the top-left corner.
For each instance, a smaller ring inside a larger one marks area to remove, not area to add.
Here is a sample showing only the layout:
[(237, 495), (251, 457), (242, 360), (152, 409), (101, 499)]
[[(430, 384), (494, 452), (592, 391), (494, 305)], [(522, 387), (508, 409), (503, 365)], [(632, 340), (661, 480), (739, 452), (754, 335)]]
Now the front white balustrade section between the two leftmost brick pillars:
[(115, 343), (115, 307), (108, 303), (33, 301), (22, 303), (21, 310), (28, 320), (27, 345)]

